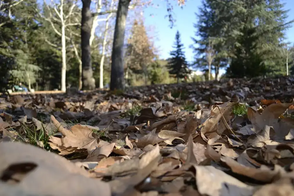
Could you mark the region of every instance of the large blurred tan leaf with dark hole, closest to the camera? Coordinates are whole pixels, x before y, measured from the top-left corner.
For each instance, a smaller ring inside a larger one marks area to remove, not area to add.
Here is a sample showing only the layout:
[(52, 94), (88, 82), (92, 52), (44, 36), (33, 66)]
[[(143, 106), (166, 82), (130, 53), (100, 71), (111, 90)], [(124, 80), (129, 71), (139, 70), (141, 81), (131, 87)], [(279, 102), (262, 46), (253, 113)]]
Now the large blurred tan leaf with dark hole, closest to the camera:
[[(108, 183), (55, 153), (24, 143), (0, 143), (0, 195), (110, 196)], [(46, 176), (46, 177), (44, 177)]]

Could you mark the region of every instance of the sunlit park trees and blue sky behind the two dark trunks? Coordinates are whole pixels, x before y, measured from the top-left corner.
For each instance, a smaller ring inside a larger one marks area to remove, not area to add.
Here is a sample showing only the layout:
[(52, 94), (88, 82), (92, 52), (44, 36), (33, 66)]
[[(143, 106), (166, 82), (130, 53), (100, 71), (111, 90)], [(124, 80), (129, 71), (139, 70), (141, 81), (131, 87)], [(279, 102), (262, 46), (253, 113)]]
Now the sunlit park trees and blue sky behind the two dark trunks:
[[(118, 1), (90, 2), (91, 70), (102, 88), (111, 78)], [(190, 0), (183, 7), (131, 1), (123, 46), (126, 85), (290, 75), (293, 6), (291, 0)], [(1, 1), (1, 81), (35, 91), (82, 88), (81, 17), (82, 1)]]

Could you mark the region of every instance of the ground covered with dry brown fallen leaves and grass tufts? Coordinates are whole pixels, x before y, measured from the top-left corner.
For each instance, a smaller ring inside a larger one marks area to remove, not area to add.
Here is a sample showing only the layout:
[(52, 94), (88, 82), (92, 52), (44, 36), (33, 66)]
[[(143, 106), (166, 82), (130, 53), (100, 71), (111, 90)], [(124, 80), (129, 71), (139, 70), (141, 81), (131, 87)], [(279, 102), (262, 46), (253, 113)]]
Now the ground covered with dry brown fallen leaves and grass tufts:
[(293, 81), (0, 98), (0, 195), (293, 195)]

